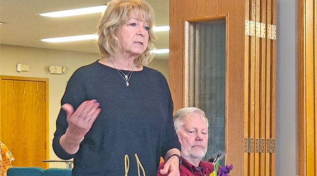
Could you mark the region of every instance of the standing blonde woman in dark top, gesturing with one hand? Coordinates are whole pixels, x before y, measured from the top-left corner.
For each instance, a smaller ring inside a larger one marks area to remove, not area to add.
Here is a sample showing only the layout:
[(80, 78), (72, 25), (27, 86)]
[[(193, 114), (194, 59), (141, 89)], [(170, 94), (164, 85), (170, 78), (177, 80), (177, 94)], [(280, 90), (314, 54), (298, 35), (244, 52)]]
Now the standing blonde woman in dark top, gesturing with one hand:
[[(72, 176), (179, 176), (180, 144), (164, 76), (153, 58), (154, 12), (143, 0), (112, 0), (99, 25), (101, 59), (69, 79), (53, 149), (74, 158)], [(140, 171), (141, 170), (141, 171)]]

